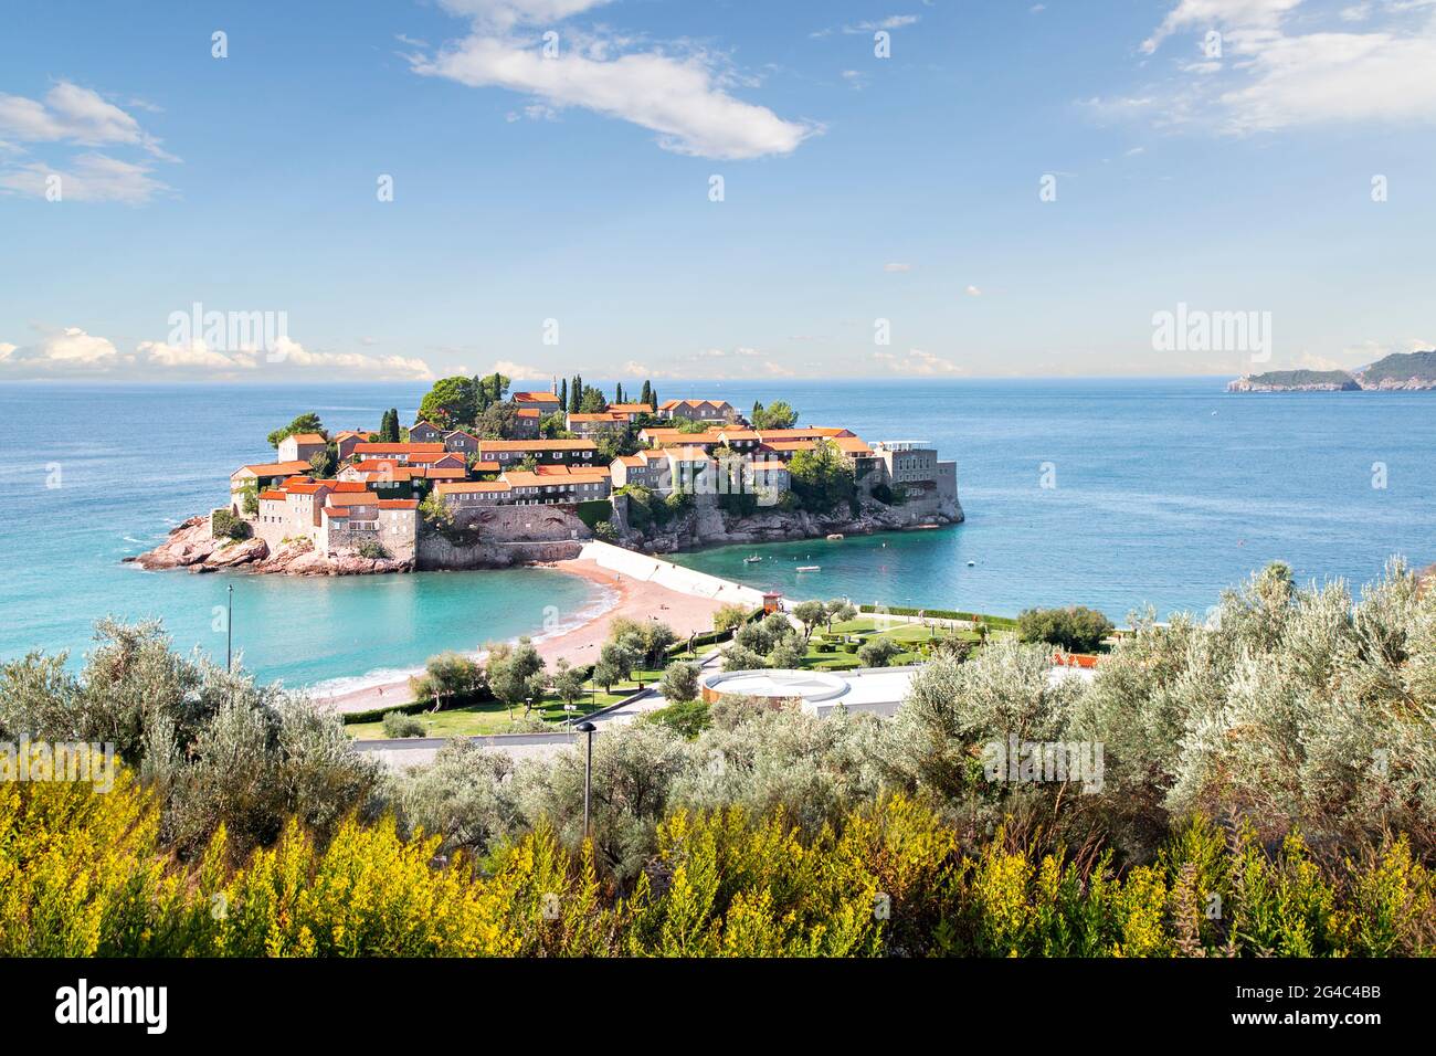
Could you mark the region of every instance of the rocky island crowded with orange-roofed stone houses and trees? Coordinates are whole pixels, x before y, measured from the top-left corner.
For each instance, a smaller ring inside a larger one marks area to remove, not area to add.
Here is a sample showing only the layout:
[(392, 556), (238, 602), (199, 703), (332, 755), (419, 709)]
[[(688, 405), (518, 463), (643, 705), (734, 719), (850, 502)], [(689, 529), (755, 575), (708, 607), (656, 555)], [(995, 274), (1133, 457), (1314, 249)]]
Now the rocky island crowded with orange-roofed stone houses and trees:
[(785, 401), (612, 398), (582, 376), (510, 392), (444, 378), (401, 428), (329, 431), (313, 412), (230, 476), (228, 501), (134, 560), (146, 569), (365, 575), (569, 562), (942, 527), (964, 519), (956, 463), (922, 440), (800, 425)]

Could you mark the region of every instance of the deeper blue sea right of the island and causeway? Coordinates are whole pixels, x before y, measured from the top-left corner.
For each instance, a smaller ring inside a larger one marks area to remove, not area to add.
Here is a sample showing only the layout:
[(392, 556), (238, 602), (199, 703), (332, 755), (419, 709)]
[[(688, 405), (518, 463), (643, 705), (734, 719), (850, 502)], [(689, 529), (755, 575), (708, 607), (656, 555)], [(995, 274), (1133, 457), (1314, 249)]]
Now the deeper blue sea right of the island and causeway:
[[(1205, 612), (1271, 560), (1351, 583), (1391, 555), (1436, 562), (1436, 392), (1235, 395), (1223, 381), (794, 386), (806, 421), (956, 458), (966, 523), (675, 560), (793, 598), (995, 615), (1080, 603), (1117, 621), (1144, 605)], [(724, 395), (748, 407), (760, 388)], [(765, 560), (744, 565), (752, 553)]]

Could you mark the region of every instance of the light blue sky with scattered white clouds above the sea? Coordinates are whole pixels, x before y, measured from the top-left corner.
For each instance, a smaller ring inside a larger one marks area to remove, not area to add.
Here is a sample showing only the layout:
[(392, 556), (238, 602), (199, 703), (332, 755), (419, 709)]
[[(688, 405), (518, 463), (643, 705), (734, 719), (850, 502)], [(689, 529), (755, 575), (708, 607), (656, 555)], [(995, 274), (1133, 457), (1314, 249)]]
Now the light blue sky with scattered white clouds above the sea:
[(1436, 0), (0, 22), (0, 381), (673, 391), (1436, 345)]

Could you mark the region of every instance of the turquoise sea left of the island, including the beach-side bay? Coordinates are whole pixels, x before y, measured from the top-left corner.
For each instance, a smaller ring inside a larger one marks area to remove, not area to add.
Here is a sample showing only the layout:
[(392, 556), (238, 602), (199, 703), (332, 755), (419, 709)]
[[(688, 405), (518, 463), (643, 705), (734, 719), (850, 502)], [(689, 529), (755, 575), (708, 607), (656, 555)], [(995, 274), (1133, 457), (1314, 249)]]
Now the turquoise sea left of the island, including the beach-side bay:
[(228, 474), (261, 461), (264, 435), (300, 411), (316, 409), (336, 428), (373, 425), (395, 402), (412, 415), (418, 398), (369, 386), (0, 386), (9, 434), (0, 460), (0, 658), (43, 648), (78, 659), (93, 622), (115, 615), (161, 618), (178, 647), (223, 662), (215, 606), (225, 605), (230, 585), (236, 651), (261, 677), (289, 685), (406, 671), (441, 649), (472, 651), (580, 619), (600, 592), (543, 569), (300, 578), (121, 565), (224, 501)]

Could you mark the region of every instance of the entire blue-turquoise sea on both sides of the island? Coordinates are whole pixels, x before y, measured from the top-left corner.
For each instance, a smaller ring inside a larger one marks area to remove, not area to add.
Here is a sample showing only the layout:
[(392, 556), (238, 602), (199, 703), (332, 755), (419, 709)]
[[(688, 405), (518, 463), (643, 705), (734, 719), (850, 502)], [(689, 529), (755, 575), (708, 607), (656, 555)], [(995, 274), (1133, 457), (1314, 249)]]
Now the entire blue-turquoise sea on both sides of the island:
[[(1123, 619), (1143, 605), (1202, 612), (1277, 559), (1353, 583), (1391, 555), (1436, 560), (1436, 394), (1228, 395), (1216, 378), (666, 388), (745, 409), (787, 398), (806, 424), (928, 440), (958, 461), (959, 527), (678, 557), (791, 596), (1007, 615), (1084, 603)], [(292, 685), (579, 619), (595, 589), (543, 570), (310, 579), (119, 563), (223, 501), (228, 474), (269, 457), (264, 434), (296, 414), (373, 428), (391, 405), (411, 421), (422, 392), (0, 385), (0, 658), (78, 657), (112, 613), (161, 618), (177, 645), (223, 659), (214, 608), (230, 583), (246, 664)], [(745, 565), (752, 553), (764, 560)]]

